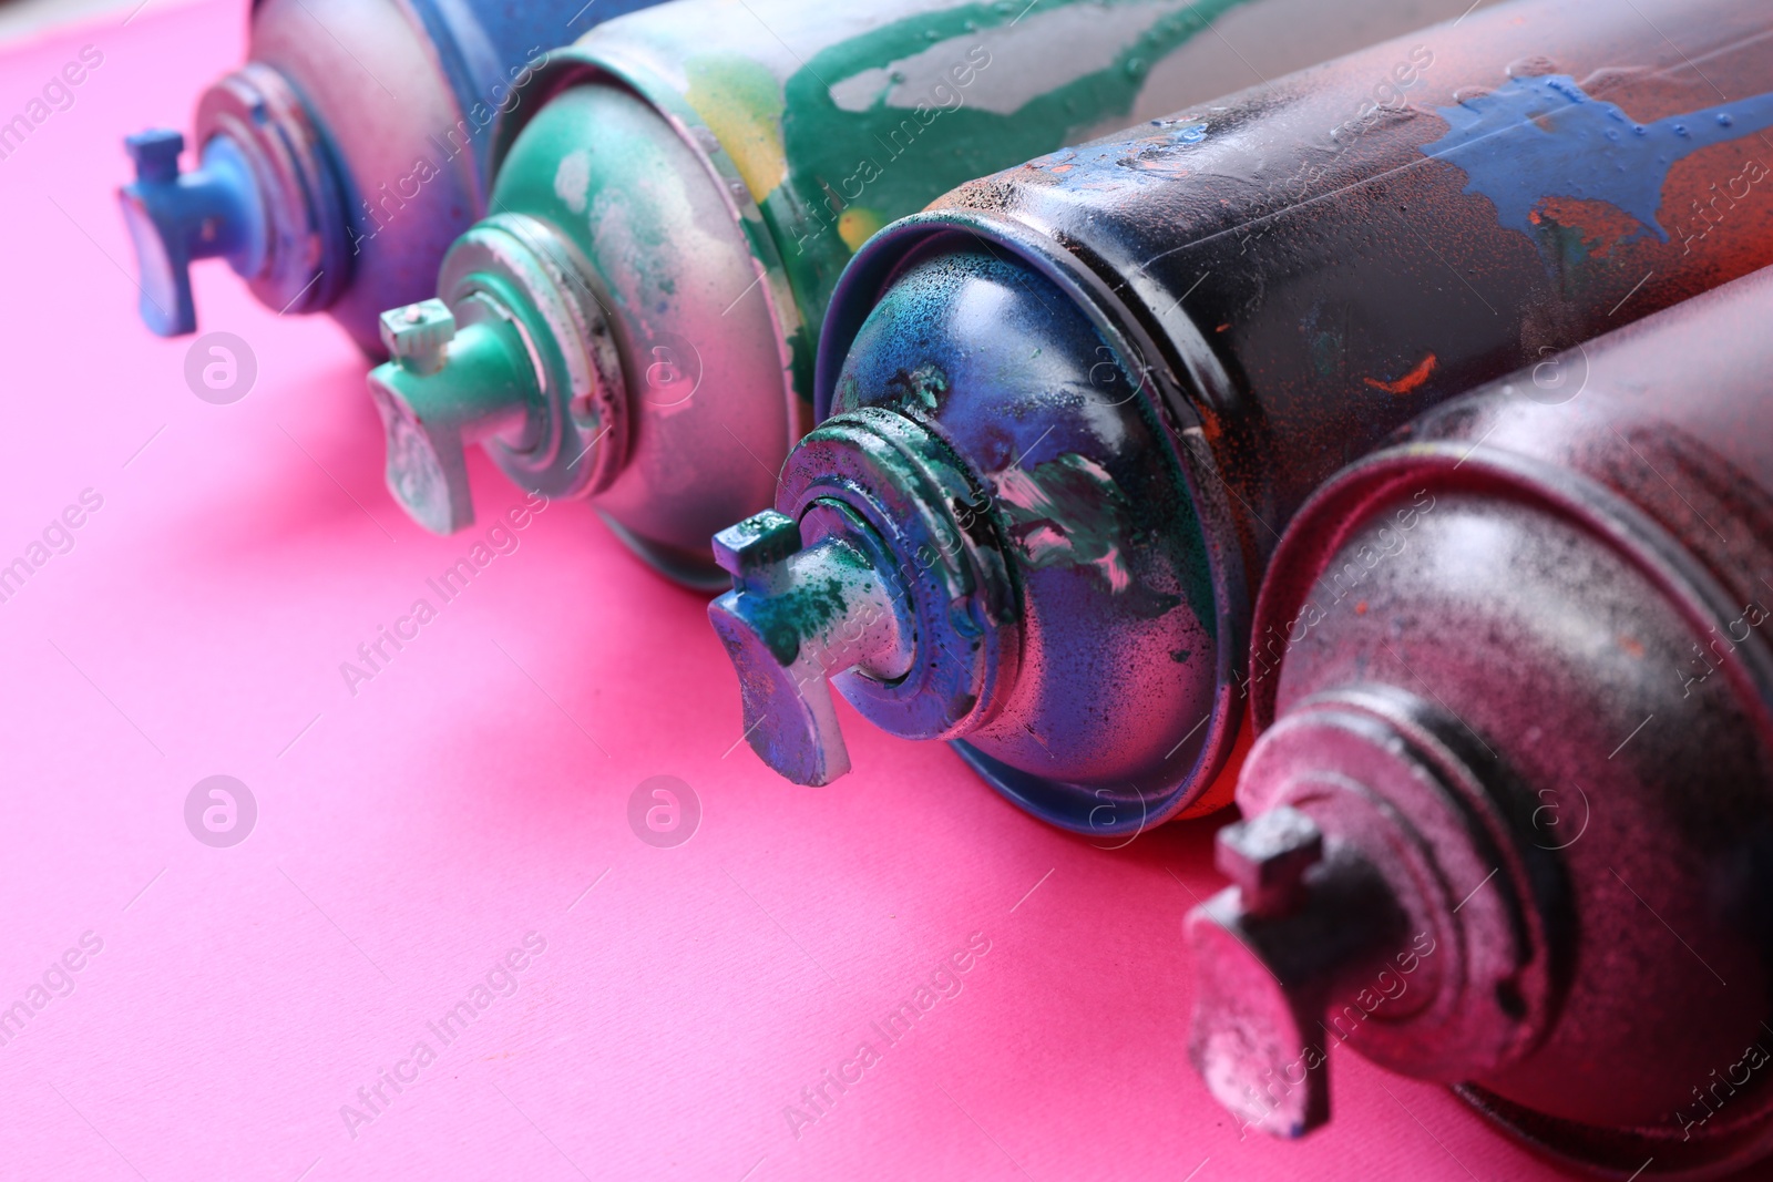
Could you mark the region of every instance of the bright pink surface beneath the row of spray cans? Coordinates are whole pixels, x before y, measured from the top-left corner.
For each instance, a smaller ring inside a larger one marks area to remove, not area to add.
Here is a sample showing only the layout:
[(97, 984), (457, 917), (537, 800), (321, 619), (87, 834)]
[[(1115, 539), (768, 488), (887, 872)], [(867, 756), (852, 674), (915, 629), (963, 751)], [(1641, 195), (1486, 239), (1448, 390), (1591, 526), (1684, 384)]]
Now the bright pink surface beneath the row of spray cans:
[[(365, 367), (328, 321), (202, 266), (204, 331), (259, 362), (211, 406), (121, 273), (119, 136), (186, 126), (243, 25), (238, 0), (149, 7), (0, 57), (9, 117), (82, 44), (105, 55), (0, 161), (0, 562), (103, 496), (0, 603), (0, 1007), (103, 939), (0, 1046), (0, 1175), (1562, 1177), (1346, 1053), (1328, 1131), (1241, 1141), (1183, 1053), (1211, 826), (1099, 851), (853, 716), (855, 774), (778, 782), (734, 746), (702, 601), (583, 505), (353, 696), (340, 661), (438, 604), (426, 579), (473, 535), (388, 502)], [(484, 519), (518, 502), (475, 478)], [(216, 773), (261, 808), (232, 849), (183, 820)], [(654, 774), (702, 801), (677, 849), (626, 820)], [(427, 1023), (528, 932), (546, 952), (518, 991), (443, 1046)], [(961, 992), (881, 1038), (972, 932), (989, 952)], [(340, 1108), (418, 1042), (434, 1061), (353, 1136)], [(784, 1109), (863, 1042), (878, 1061), (796, 1136)]]

